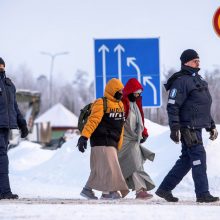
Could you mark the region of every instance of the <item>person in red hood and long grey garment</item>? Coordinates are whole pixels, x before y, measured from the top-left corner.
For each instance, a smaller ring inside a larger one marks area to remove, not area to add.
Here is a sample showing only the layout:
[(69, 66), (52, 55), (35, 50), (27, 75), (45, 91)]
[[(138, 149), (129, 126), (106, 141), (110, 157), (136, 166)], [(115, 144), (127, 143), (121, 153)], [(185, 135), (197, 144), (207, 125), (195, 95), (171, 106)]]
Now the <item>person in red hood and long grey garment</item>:
[(155, 154), (140, 144), (148, 138), (144, 126), (142, 109), (142, 85), (137, 79), (131, 78), (123, 89), (122, 102), (125, 108), (126, 122), (121, 151), (118, 152), (119, 163), (129, 189), (136, 191), (136, 199), (150, 199), (155, 185), (150, 176), (144, 171), (146, 159), (153, 161)]

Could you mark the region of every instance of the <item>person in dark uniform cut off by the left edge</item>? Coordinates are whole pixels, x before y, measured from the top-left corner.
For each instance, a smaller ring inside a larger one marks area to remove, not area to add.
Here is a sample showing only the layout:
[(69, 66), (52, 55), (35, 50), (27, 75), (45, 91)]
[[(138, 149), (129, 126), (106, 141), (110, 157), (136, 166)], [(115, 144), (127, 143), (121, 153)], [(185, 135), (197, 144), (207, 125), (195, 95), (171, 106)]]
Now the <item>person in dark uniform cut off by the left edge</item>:
[(26, 121), (17, 105), (15, 86), (6, 77), (5, 62), (0, 57), (0, 199), (18, 199), (18, 195), (11, 192), (7, 155), (9, 131), (17, 128), (22, 138), (28, 135)]

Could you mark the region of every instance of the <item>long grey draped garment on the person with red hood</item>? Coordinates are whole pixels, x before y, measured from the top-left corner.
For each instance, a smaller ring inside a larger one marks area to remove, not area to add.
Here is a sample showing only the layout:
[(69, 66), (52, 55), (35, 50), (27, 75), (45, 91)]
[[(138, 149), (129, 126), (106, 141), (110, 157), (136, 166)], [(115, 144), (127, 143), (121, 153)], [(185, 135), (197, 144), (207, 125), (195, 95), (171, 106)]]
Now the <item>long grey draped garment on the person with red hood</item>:
[(155, 185), (150, 176), (144, 171), (146, 160), (153, 161), (155, 154), (140, 145), (144, 129), (140, 111), (135, 102), (130, 102), (129, 115), (124, 127), (122, 149), (118, 152), (119, 163), (129, 189), (147, 191)]

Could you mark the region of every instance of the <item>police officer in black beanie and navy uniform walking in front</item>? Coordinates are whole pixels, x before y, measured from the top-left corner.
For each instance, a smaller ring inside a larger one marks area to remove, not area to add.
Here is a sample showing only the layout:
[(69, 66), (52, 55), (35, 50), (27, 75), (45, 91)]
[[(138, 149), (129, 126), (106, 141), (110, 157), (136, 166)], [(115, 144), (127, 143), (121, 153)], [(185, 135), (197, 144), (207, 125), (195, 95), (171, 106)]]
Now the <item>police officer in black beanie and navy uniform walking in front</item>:
[(168, 202), (177, 202), (172, 190), (192, 170), (196, 201), (215, 202), (209, 192), (206, 173), (206, 152), (203, 146), (202, 129), (210, 133), (214, 141), (218, 132), (211, 116), (212, 98), (207, 82), (199, 75), (199, 55), (195, 50), (185, 50), (180, 56), (181, 70), (168, 79), (165, 88), (169, 91), (167, 113), (171, 130), (170, 138), (182, 143), (182, 151), (174, 167), (164, 178), (156, 195)]

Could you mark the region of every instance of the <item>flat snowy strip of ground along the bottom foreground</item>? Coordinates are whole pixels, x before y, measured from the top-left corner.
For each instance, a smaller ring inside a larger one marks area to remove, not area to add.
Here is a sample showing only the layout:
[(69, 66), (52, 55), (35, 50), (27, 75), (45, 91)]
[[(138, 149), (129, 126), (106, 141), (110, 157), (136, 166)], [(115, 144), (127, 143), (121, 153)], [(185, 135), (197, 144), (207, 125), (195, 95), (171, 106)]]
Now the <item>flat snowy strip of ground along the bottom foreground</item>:
[(1, 205), (1, 220), (219, 220), (218, 206)]

